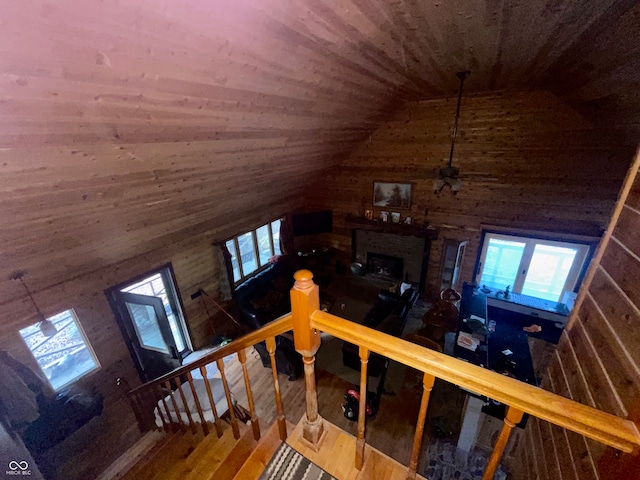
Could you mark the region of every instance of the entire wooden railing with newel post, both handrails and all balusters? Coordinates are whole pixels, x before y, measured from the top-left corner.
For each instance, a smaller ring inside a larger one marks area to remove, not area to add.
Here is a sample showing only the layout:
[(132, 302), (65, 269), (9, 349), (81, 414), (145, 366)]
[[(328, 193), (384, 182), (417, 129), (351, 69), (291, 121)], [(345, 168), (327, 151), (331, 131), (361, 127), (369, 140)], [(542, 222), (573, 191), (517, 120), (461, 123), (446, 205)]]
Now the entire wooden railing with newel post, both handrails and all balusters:
[[(295, 279), (295, 285), (291, 289), (291, 314), (285, 315), (269, 323), (267, 326), (221, 347), (192, 364), (185, 365), (163, 377), (133, 389), (129, 393), (129, 396), (141, 428), (143, 430), (156, 428), (155, 415), (153, 412), (154, 409), (158, 407), (158, 402), (160, 402), (161, 407), (158, 410), (160, 412), (159, 416), (162, 419), (163, 428), (166, 430), (173, 428), (174, 425), (172, 425), (170, 421), (171, 416), (165, 396), (167, 392), (171, 392), (169, 400), (173, 403), (174, 408), (176, 408), (176, 394), (181, 396), (184, 402), (184, 392), (182, 388), (183, 385), (187, 383), (194, 394), (196, 410), (201, 422), (195, 422), (190, 413), (188, 425), (180, 422), (178, 427), (186, 430), (188, 426), (195, 432), (197, 428), (196, 423), (201, 423), (203, 432), (205, 435), (208, 434), (208, 427), (204, 421), (202, 408), (197, 395), (195, 395), (193, 378), (190, 372), (195, 368), (199, 368), (203, 377), (206, 378), (206, 365), (215, 362), (222, 376), (227, 403), (231, 405), (231, 393), (225, 377), (224, 362), (222, 359), (227, 355), (237, 354), (243, 369), (254, 437), (256, 440), (259, 439), (260, 428), (247, 374), (245, 349), (261, 341), (266, 341), (267, 350), (271, 358), (278, 429), (280, 438), (284, 441), (287, 437), (286, 420), (276, 370), (275, 337), (293, 328), (296, 351), (302, 355), (304, 362), (306, 415), (303, 418), (303, 437), (316, 449), (320, 448), (324, 430), (323, 419), (318, 413), (314, 371), (315, 355), (320, 348), (320, 332), (326, 332), (335, 337), (347, 340), (350, 343), (359, 345), (359, 356), (362, 368), (355, 455), (355, 466), (358, 469), (362, 469), (365, 460), (367, 362), (371, 352), (376, 352), (389, 359), (403, 363), (424, 374), (423, 396), (420, 403), (413, 448), (407, 470), (407, 479), (416, 478), (416, 469), (421, 450), (429, 396), (436, 378), (441, 378), (479, 395), (499, 401), (508, 407), (504, 425), (484, 472), (483, 480), (493, 478), (511, 430), (520, 422), (524, 413), (572, 430), (624, 452), (637, 451), (640, 446), (638, 426), (630, 420), (625, 420), (601, 410), (582, 405), (505, 375), (492, 372), (443, 353), (421, 347), (414, 343), (323, 312), (320, 310), (319, 290), (318, 286), (313, 282), (312, 273), (308, 270), (300, 270), (296, 272)], [(205, 382), (205, 384), (207, 385), (208, 400), (215, 418), (214, 423), (217, 434), (220, 436), (219, 417), (215, 411), (212, 392), (208, 383)], [(163, 391), (162, 387), (165, 387), (166, 390)], [(238, 438), (238, 425), (233, 414), (233, 408), (230, 408), (230, 414), (234, 435)], [(167, 418), (165, 418), (165, 415)]]

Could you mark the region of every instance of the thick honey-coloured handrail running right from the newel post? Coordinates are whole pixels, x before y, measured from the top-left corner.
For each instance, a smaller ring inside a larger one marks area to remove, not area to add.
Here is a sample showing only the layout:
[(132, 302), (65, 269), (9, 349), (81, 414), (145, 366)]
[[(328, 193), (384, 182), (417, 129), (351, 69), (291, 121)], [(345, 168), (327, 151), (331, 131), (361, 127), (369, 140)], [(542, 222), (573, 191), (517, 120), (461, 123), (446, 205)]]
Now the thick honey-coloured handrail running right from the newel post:
[(542, 388), (421, 347), (377, 330), (315, 310), (313, 329), (363, 346), (392, 360), (485, 395), (555, 425), (580, 433), (624, 452), (640, 446), (638, 426)]

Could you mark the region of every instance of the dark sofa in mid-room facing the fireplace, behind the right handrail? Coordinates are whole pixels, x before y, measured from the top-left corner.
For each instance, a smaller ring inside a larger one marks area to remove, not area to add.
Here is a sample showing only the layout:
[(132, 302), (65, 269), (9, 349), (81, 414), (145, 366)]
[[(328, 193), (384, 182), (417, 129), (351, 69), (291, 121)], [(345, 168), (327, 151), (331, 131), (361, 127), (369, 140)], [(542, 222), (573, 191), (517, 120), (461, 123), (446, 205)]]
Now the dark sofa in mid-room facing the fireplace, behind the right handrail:
[[(418, 298), (418, 292), (409, 288), (402, 295), (382, 290), (367, 312), (361, 324), (379, 332), (399, 337), (407, 323), (409, 310)], [(385, 368), (386, 357), (372, 352), (367, 364), (367, 374), (379, 377)], [(345, 341), (342, 344), (342, 363), (354, 370), (360, 370), (358, 346)]]

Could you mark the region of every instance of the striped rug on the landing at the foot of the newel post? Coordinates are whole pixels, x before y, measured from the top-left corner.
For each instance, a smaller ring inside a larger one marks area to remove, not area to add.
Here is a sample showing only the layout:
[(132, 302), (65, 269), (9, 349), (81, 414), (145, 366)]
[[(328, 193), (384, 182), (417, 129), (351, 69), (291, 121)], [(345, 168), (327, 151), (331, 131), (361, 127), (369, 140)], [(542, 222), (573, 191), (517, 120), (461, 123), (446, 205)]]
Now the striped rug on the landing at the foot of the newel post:
[(282, 443), (259, 480), (336, 480), (311, 460)]

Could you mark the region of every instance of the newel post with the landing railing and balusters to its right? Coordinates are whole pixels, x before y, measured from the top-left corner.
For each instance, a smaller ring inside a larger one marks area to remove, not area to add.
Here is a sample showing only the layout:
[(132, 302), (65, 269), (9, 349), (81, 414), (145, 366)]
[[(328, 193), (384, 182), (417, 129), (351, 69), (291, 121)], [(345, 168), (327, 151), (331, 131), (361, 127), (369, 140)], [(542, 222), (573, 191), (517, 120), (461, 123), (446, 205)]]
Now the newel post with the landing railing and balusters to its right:
[[(424, 373), (424, 392), (408, 467), (408, 479), (416, 477), (424, 421), (435, 378), (492, 398), (508, 407), (504, 425), (483, 480), (493, 478), (511, 430), (522, 419), (524, 413), (624, 452), (637, 451), (640, 446), (638, 426), (630, 420), (323, 312), (319, 308), (318, 286), (312, 280), (313, 274), (307, 270), (300, 270), (296, 272), (295, 279), (296, 283), (291, 290), (294, 340), (296, 350), (304, 356), (307, 377), (307, 418), (303, 422), (304, 437), (317, 445), (322, 433), (322, 419), (317, 413), (317, 399), (310, 398), (315, 396), (315, 382), (311, 377), (313, 369), (307, 369), (307, 365), (313, 365), (313, 356), (320, 346), (320, 332), (326, 332), (360, 347), (362, 368), (355, 457), (355, 464), (359, 469), (362, 468), (364, 459), (366, 369), (370, 352), (379, 353)], [(312, 383), (314, 385), (310, 385)]]

